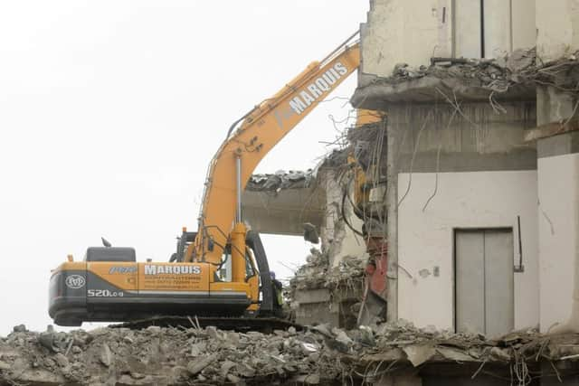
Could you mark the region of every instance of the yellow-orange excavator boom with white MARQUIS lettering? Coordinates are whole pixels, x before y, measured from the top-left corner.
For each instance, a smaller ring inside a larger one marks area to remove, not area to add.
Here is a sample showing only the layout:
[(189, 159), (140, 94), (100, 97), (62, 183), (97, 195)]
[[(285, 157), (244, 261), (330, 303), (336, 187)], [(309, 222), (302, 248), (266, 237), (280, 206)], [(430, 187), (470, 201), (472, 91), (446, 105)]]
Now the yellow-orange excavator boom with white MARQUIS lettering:
[[(186, 262), (218, 265), (225, 245), (231, 243), (233, 280), (242, 277), (246, 232), (241, 213), (242, 191), (273, 146), (356, 71), (360, 62), (359, 46), (352, 42), (356, 35), (322, 61), (310, 63), (294, 80), (230, 128), (208, 168), (199, 228), (195, 243), (185, 252)], [(235, 128), (239, 122), (241, 125)]]

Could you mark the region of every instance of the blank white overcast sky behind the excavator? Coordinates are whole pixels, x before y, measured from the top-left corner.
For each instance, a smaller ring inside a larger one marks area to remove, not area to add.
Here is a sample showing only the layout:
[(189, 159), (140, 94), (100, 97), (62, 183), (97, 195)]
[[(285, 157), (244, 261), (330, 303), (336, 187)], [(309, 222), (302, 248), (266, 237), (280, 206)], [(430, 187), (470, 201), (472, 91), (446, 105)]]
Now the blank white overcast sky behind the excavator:
[[(166, 261), (196, 229), (209, 160), (247, 110), (365, 21), (367, 1), (0, 2), (0, 335), (43, 330), (48, 282), (105, 236)], [(356, 76), (333, 97), (350, 97)], [(258, 173), (317, 164), (320, 104)], [(343, 124), (338, 127), (344, 127)], [(266, 236), (278, 276), (310, 245)], [(90, 327), (90, 325), (85, 325)]]

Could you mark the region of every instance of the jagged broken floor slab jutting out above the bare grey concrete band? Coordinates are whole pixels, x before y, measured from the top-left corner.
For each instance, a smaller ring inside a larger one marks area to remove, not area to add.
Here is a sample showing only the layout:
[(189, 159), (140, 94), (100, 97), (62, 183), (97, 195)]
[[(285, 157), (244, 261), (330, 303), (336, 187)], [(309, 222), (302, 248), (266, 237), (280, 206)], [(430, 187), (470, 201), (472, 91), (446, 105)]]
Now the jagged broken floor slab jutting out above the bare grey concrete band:
[(389, 77), (361, 74), (352, 104), (383, 109), (388, 103), (445, 99), (451, 103), (535, 100), (536, 85), (554, 80), (551, 69), (560, 71), (562, 66), (575, 63), (569, 57), (537, 64), (535, 49), (521, 49), (495, 59), (431, 58), (430, 66), (419, 68), (401, 63)]

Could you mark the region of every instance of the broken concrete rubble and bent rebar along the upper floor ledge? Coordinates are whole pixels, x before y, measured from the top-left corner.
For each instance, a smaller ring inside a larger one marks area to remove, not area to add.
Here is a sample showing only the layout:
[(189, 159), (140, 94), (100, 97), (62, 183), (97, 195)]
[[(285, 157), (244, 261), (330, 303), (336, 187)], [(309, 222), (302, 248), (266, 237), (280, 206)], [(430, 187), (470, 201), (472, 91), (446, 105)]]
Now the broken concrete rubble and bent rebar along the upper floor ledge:
[[(365, 92), (372, 93), (374, 86), (385, 86), (380, 95), (395, 101), (404, 98), (426, 100), (432, 96), (450, 99), (451, 103), (456, 103), (452, 99), (466, 97), (535, 98), (536, 86), (545, 85), (578, 94), (578, 54), (574, 52), (557, 61), (543, 63), (537, 61), (536, 49), (533, 48), (519, 49), (494, 59), (432, 58), (430, 66), (422, 65), (418, 68), (399, 63), (394, 66), (391, 76), (367, 80), (365, 85), (356, 90), (352, 101), (354, 106), (358, 106), (367, 98)], [(403, 84), (406, 86), (398, 87)], [(422, 97), (412, 92), (413, 87), (422, 90)], [(439, 92), (435, 92), (435, 89), (439, 89)], [(449, 89), (450, 95), (447, 92)]]

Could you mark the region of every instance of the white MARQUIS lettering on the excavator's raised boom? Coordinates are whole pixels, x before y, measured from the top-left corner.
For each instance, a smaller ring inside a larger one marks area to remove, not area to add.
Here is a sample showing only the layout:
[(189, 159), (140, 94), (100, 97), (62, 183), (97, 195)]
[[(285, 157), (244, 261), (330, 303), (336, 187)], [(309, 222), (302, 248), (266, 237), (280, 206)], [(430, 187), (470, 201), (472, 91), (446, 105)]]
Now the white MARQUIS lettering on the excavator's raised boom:
[(280, 108), (274, 112), (280, 128), (283, 128), (283, 121), (293, 115), (301, 115), (306, 108), (317, 102), (324, 93), (332, 90), (337, 80), (347, 74), (347, 68), (340, 61), (337, 61), (328, 71), (311, 82), (308, 87), (299, 92), (299, 95), (289, 100), (289, 108)]

